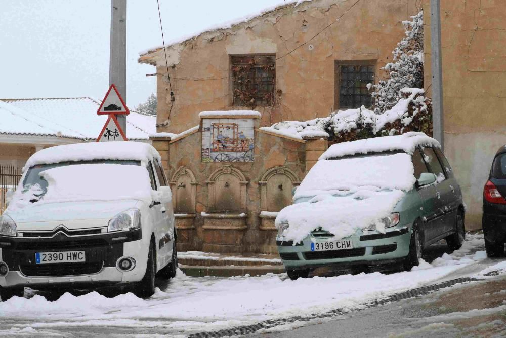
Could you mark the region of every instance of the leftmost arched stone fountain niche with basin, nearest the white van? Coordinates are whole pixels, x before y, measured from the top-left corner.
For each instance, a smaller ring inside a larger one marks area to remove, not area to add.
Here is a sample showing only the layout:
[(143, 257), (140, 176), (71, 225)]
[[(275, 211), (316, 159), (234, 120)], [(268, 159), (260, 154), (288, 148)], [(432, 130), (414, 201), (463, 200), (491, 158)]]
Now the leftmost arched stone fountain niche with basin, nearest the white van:
[(195, 198), (197, 181), (187, 167), (179, 167), (171, 179), (172, 203), (176, 228), (178, 229), (178, 250), (186, 251), (195, 247)]

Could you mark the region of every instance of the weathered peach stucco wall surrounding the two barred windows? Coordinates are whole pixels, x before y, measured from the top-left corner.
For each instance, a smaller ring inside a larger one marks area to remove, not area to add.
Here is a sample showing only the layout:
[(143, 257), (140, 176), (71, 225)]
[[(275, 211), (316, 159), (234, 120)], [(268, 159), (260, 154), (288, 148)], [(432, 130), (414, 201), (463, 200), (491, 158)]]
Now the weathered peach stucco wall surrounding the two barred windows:
[[(335, 60), (377, 60), (376, 82), (378, 76), (384, 78), (380, 68), (391, 61), (392, 50), (403, 37), (401, 22), (418, 12), (421, 0), (354, 3), (291, 4), (167, 48), (176, 101), (170, 125), (158, 131), (179, 133), (198, 123), (200, 111), (236, 108), (230, 106), (229, 95), (229, 57), (234, 54), (276, 55), (280, 100), (273, 108), (255, 107), (262, 112), (261, 126), (328, 116), (334, 108)], [(140, 62), (157, 64), (157, 122), (164, 124), (171, 102), (163, 51), (144, 55)]]

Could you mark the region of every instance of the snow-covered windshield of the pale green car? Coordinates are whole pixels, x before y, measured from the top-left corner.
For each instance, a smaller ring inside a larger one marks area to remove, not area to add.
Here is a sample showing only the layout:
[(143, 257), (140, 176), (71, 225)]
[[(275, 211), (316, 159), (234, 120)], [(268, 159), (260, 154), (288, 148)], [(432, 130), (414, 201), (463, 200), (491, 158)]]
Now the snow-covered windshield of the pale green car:
[(357, 154), (320, 160), (296, 191), (296, 198), (343, 195), (357, 190), (409, 191), (415, 182), (411, 155), (404, 152)]

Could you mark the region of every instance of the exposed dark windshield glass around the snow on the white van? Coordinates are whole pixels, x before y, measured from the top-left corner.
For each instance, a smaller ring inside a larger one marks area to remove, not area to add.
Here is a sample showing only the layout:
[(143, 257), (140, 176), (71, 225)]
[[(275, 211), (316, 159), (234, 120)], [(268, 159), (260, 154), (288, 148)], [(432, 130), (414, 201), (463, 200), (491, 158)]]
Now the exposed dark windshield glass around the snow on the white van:
[[(41, 193), (38, 193), (37, 197), (43, 197), (48, 190), (48, 182), (40, 177), (40, 173), (44, 170), (58, 168), (58, 167), (66, 167), (70, 165), (77, 164), (119, 164), (119, 165), (137, 165), (140, 166), (140, 161), (133, 160), (93, 160), (93, 161), (71, 161), (71, 162), (60, 162), (60, 163), (52, 163), (52, 164), (39, 164), (33, 167), (30, 167), (26, 172), (25, 179), (23, 180), (23, 191), (27, 191), (31, 189), (31, 187), (38, 186), (40, 187)], [(79, 177), (76, 177), (79, 179)]]

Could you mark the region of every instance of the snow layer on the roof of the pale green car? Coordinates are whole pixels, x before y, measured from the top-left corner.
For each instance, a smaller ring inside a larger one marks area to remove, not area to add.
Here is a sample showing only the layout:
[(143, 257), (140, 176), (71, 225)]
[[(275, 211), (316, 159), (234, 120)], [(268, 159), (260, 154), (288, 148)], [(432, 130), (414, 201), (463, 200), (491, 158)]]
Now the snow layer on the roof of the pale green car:
[(319, 160), (387, 151), (403, 151), (412, 154), (417, 146), (439, 147), (440, 144), (424, 133), (408, 132), (396, 136), (375, 137), (334, 144), (320, 156)]

